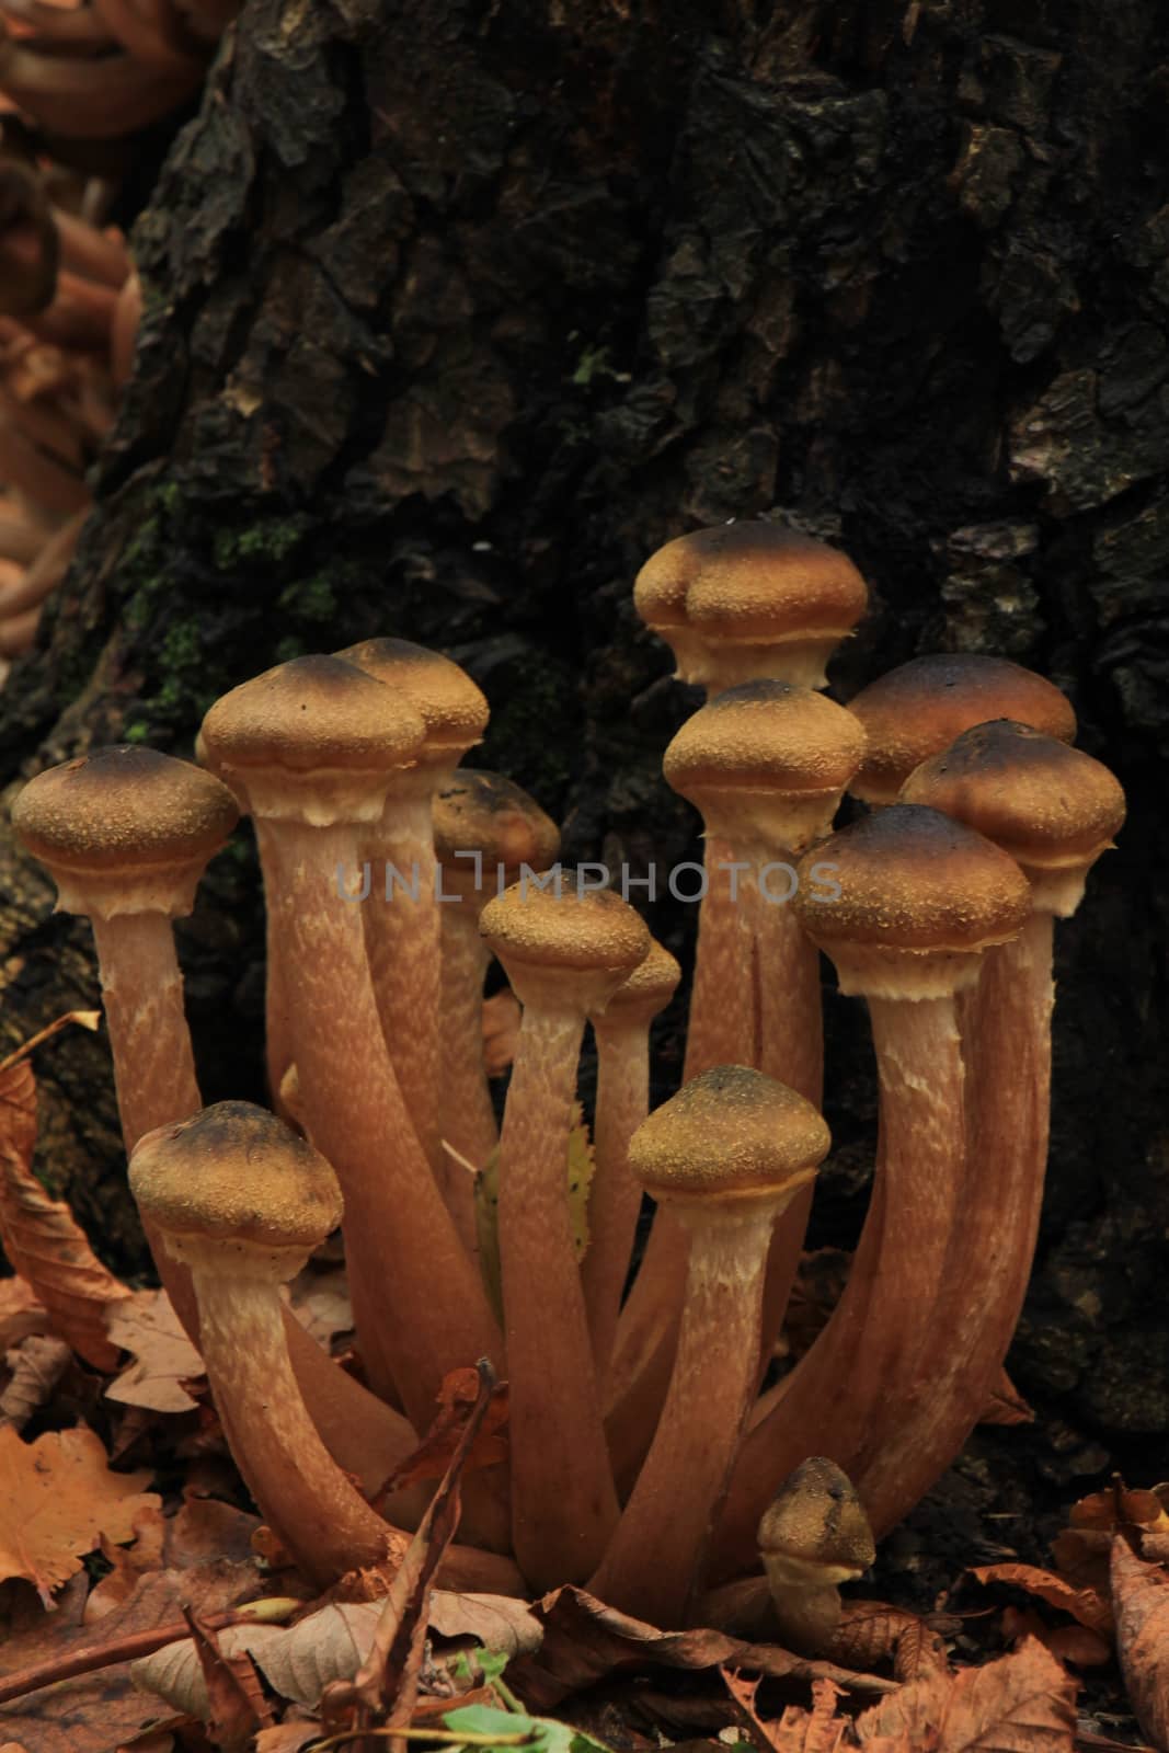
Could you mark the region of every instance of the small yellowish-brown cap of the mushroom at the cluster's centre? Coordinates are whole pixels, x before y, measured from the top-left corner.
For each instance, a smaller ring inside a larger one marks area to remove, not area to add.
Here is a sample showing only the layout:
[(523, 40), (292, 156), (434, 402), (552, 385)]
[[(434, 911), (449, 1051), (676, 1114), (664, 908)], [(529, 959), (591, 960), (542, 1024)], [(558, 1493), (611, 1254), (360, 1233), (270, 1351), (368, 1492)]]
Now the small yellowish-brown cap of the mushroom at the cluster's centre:
[(494, 896), (478, 929), (505, 968), (629, 975), (650, 948), (645, 920), (612, 889), (577, 885), (559, 871), (559, 892), (521, 880)]

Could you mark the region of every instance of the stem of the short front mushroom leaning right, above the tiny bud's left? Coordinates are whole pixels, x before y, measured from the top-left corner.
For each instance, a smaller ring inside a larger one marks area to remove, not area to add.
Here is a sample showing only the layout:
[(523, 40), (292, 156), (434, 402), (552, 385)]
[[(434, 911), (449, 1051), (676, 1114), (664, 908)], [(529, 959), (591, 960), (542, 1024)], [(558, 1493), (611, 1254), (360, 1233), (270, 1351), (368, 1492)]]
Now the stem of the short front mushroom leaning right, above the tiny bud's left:
[[(687, 1620), (755, 1394), (775, 1208), (696, 1220), (670, 1392), (589, 1592), (650, 1625)], [(701, 1222), (701, 1227), (699, 1227)], [(712, 1336), (719, 1338), (712, 1369)]]

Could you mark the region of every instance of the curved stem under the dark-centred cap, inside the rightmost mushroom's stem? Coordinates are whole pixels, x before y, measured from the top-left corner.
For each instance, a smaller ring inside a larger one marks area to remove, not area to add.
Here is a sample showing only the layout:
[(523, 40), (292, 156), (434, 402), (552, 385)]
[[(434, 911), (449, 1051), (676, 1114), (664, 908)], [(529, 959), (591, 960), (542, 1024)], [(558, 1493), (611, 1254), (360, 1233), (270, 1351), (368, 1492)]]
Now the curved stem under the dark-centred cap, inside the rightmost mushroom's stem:
[(848, 1283), (811, 1350), (743, 1443), (719, 1537), (720, 1572), (752, 1562), (775, 1481), (808, 1453), (861, 1478), (908, 1416), (911, 1366), (932, 1332), (966, 1166), (964, 1064), (953, 997), (869, 999), (880, 1075), (873, 1197)]

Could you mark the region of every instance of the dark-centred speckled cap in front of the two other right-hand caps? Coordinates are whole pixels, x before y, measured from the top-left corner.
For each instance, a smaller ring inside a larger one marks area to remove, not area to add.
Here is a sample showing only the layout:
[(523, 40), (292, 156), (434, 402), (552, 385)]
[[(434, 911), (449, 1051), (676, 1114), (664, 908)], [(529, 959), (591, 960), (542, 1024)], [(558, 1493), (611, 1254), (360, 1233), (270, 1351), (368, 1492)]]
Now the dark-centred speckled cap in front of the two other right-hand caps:
[(799, 922), (836, 962), (841, 992), (943, 997), (1018, 934), (1031, 889), (1018, 864), (939, 810), (892, 805), (799, 862)]

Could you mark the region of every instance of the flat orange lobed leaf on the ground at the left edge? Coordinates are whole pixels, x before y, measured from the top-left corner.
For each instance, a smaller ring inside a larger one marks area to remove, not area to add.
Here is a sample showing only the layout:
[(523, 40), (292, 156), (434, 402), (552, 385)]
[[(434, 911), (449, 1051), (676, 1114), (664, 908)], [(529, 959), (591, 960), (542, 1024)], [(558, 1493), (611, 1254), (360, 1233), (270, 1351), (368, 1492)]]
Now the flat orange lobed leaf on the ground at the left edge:
[(0, 1581), (23, 1576), (46, 1606), (98, 1539), (133, 1537), (133, 1520), (159, 1499), (149, 1473), (110, 1473), (93, 1430), (51, 1430), (23, 1443), (0, 1429)]

